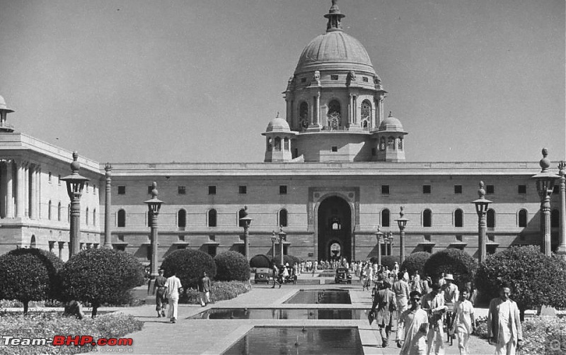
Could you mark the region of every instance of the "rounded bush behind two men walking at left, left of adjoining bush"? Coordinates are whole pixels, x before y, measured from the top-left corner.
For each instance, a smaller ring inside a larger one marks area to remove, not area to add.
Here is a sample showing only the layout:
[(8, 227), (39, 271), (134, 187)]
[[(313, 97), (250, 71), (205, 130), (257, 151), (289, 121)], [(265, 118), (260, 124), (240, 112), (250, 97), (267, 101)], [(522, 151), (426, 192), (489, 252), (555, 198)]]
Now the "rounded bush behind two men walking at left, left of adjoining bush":
[(214, 278), (216, 275), (214, 259), (209, 254), (195, 249), (175, 250), (163, 259), (161, 269), (165, 271), (166, 277), (176, 273), (185, 290), (196, 288), (204, 271), (209, 278)]

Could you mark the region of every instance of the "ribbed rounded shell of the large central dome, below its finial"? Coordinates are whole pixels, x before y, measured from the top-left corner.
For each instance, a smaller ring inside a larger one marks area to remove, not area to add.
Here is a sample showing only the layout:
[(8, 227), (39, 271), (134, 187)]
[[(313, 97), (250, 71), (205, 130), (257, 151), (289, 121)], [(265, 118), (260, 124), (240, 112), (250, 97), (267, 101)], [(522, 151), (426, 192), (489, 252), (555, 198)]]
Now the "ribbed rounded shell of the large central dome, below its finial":
[(306, 45), (294, 74), (314, 70), (354, 70), (376, 74), (362, 43), (342, 30), (318, 35)]

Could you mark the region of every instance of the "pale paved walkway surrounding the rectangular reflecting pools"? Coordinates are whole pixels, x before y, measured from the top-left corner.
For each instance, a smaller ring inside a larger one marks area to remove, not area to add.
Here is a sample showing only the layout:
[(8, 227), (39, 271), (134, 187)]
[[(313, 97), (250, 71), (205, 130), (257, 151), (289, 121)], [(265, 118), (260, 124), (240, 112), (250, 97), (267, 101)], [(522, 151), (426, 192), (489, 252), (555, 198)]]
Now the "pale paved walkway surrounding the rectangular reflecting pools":
[[(301, 276), (301, 279), (312, 276)], [(331, 282), (331, 279), (326, 279)], [(282, 304), (300, 289), (344, 288), (350, 291), (352, 305), (316, 305), (316, 308), (371, 308), (371, 293), (362, 291), (358, 285), (285, 285), (282, 288), (271, 288), (265, 284), (254, 285), (246, 294), (233, 300), (209, 304), (206, 308), (200, 305), (180, 305), (178, 322), (169, 323), (163, 318), (156, 317), (154, 305), (144, 305), (135, 308), (122, 308), (144, 322), (144, 329), (127, 337), (133, 338), (133, 354), (221, 354), (231, 344), (240, 339), (255, 326), (302, 327), (358, 327), (364, 354), (399, 354), (399, 349), (393, 341), (387, 348), (381, 347), (381, 337), (377, 332), (375, 322), (369, 326), (366, 316), (362, 313), (361, 320), (192, 320), (188, 319), (209, 308), (314, 308), (313, 305)], [(487, 310), (478, 310), (478, 315), (487, 314)], [(483, 314), (485, 313), (485, 314)], [(394, 339), (395, 334), (391, 335)], [(473, 337), (470, 339), (470, 354), (494, 354), (495, 347), (485, 340)], [(285, 354), (285, 353), (281, 353)], [(459, 354), (456, 342), (453, 346), (446, 344), (446, 354)]]

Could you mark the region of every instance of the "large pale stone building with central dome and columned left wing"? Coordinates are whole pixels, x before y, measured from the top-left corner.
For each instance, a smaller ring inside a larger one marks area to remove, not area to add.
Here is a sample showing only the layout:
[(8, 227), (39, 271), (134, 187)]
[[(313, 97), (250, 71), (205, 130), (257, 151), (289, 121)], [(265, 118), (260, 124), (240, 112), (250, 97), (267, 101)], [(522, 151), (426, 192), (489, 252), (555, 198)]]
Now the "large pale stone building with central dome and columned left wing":
[[(493, 201), (487, 252), (541, 244), (540, 200), (531, 179), (538, 164), (405, 162), (408, 133), (400, 120), (384, 114), (384, 84), (364, 46), (342, 30), (343, 17), (333, 4), (325, 15), (326, 33), (299, 57), (284, 91), (285, 118), (272, 119), (262, 133), (265, 162), (112, 164), (113, 247), (149, 261), (144, 201), (152, 181), (166, 202), (158, 219), (160, 258), (179, 248), (243, 252), (238, 218), (244, 205), (253, 218), (250, 255), (271, 254), (272, 232), (282, 226), (285, 254), (366, 259), (380, 252), (378, 225), (393, 232), (393, 243), (381, 244), (381, 253), (398, 255), (395, 219), (404, 206), (405, 254), (454, 247), (478, 257), (472, 201), (480, 181)], [(6, 123), (11, 112), (1, 99), (0, 252), (40, 247), (67, 259), (69, 197), (61, 177), (70, 173), (71, 151), (17, 133)], [(79, 161), (81, 175), (90, 179), (81, 199), (81, 247), (100, 247), (105, 164)], [(558, 203), (555, 194), (553, 249)]]

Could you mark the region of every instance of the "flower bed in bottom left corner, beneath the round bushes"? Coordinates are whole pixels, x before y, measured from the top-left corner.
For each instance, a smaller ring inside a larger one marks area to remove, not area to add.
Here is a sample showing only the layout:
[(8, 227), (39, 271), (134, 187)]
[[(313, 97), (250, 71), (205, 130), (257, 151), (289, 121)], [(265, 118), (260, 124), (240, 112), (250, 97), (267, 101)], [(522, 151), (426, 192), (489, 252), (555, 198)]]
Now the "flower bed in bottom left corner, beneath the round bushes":
[[(143, 322), (122, 313), (78, 320), (75, 317), (63, 317), (58, 312), (30, 312), (25, 316), (21, 312), (0, 312), (0, 334), (20, 339), (50, 340), (54, 335), (90, 335), (95, 340), (117, 338), (136, 332), (141, 327)], [(87, 350), (74, 345), (0, 346), (0, 354), (76, 354)]]

